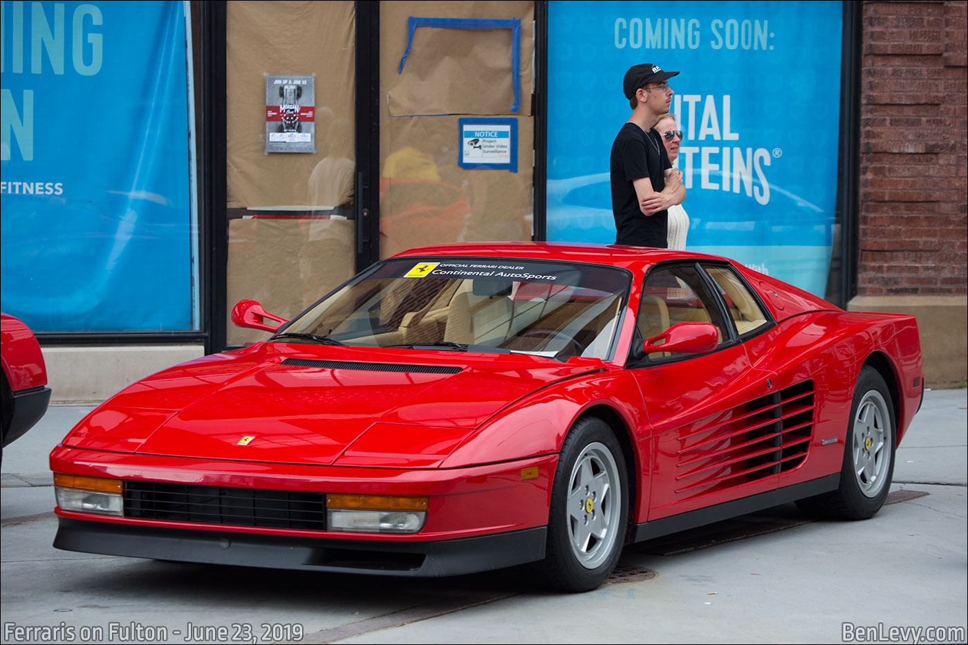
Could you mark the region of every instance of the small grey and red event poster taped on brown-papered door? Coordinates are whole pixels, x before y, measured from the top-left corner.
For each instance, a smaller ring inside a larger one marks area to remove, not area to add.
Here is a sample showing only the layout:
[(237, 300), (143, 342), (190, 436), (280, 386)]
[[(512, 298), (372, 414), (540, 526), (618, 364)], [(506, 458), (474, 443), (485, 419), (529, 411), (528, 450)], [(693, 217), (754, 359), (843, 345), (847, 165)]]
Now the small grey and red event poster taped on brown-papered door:
[(265, 75), (265, 153), (316, 152), (316, 78)]

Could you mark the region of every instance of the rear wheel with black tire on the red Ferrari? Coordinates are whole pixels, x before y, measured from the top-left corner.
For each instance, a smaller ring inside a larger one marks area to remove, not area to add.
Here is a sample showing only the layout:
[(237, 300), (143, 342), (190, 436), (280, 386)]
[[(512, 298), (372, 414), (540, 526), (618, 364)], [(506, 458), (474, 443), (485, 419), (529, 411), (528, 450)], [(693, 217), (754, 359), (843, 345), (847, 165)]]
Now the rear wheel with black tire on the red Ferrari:
[(896, 427), (888, 385), (877, 370), (865, 365), (854, 388), (840, 487), (798, 500), (797, 506), (821, 517), (853, 520), (873, 517), (884, 506), (891, 489)]

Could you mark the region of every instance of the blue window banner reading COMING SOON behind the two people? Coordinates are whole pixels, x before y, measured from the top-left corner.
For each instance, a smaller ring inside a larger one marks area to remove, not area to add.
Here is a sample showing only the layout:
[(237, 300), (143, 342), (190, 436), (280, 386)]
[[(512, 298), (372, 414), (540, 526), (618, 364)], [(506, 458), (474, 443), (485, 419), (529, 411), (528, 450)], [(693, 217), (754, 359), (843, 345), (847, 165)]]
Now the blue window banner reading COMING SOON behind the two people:
[(840, 107), (840, 2), (549, 3), (548, 239), (615, 241), (609, 153), (625, 71), (669, 79), (686, 248), (824, 295)]

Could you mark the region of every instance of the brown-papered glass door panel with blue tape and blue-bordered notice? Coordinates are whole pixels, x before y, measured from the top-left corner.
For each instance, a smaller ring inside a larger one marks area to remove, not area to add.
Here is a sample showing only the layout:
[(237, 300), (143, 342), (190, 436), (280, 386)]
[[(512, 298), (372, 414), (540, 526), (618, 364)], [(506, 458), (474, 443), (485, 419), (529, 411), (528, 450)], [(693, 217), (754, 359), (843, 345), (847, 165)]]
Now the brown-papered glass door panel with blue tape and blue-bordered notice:
[(533, 16), (529, 1), (379, 4), (379, 257), (531, 239)]

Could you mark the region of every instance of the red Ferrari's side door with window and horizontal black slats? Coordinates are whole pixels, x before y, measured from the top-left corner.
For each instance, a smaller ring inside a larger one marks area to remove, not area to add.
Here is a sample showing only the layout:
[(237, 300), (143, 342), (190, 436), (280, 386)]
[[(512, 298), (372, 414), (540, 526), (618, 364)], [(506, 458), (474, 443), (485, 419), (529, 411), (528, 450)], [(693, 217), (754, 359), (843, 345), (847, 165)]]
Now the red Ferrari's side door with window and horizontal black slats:
[(711, 323), (718, 333), (709, 353), (649, 353), (629, 365), (652, 427), (644, 474), (650, 521), (766, 492), (777, 482), (773, 375), (751, 366), (741, 342), (746, 333), (738, 333), (721, 292), (698, 262), (656, 265), (643, 286), (636, 324), (647, 345), (679, 323)]

